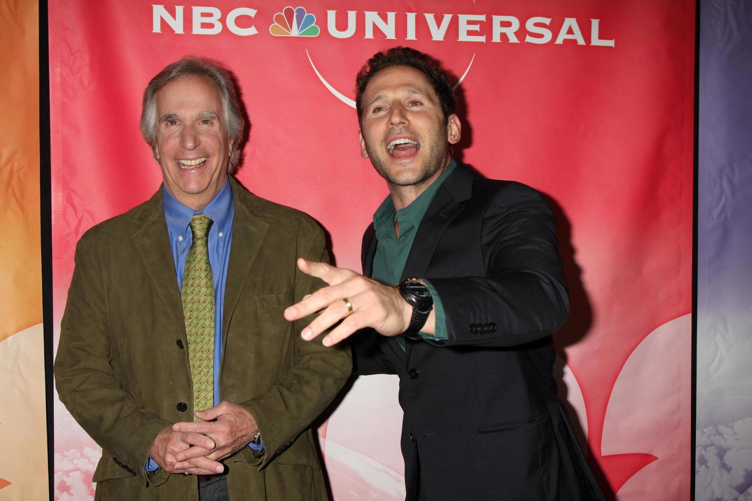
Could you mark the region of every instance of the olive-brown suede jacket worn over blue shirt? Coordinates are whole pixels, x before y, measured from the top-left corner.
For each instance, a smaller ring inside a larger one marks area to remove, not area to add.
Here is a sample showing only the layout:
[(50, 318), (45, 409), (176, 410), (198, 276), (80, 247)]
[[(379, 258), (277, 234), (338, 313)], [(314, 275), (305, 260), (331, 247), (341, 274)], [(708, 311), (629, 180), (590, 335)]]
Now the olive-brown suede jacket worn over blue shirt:
[[(323, 232), (302, 213), (230, 181), (235, 219), (220, 399), (250, 411), (265, 445), (262, 453), (243, 448), (223, 461), (230, 497), (326, 499), (309, 426), (350, 375), (350, 353), (302, 341), (311, 318), (283, 316), (323, 285), (296, 267), (301, 256), (328, 261)], [(103, 449), (93, 478), (97, 499), (198, 499), (195, 476), (144, 471), (159, 431), (193, 418), (161, 192), (86, 231), (75, 265), (55, 378), (62, 403)]]

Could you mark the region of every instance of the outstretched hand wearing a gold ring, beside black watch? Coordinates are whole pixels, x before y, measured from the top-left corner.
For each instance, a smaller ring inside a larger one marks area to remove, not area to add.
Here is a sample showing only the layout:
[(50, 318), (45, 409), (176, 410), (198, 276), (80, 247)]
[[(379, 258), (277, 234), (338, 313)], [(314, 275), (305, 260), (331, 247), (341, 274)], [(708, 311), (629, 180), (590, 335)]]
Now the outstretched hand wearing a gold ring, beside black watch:
[[(402, 299), (396, 288), (347, 268), (303, 258), (298, 259), (298, 267), (303, 273), (329, 284), (284, 311), (284, 317), (290, 321), (320, 312), (301, 331), (300, 335), (304, 340), (314, 339), (338, 321), (341, 321), (340, 324), (323, 338), (324, 346), (339, 343), (364, 327), (373, 327), (383, 336), (396, 336), (410, 326), (412, 307)], [(350, 301), (352, 313), (344, 298)]]

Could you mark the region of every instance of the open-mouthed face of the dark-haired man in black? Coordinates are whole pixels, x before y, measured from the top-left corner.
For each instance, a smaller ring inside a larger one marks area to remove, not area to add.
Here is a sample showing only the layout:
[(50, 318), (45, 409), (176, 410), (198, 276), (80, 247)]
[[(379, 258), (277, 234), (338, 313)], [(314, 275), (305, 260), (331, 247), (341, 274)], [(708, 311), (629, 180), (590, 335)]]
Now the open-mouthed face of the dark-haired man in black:
[(451, 160), (449, 144), (459, 141), (459, 119), (447, 120), (426, 76), (409, 66), (379, 71), (362, 96), (360, 152), (387, 180), (390, 190), (420, 192)]

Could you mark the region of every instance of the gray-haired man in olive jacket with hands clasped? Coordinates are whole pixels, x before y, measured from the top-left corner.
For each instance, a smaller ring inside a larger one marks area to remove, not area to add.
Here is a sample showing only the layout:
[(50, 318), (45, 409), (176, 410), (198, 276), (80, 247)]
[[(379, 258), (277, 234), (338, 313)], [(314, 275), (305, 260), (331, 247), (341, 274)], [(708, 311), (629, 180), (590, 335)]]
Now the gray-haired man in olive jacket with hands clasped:
[(78, 243), (55, 375), (102, 446), (97, 499), (326, 499), (309, 426), (350, 355), (283, 317), (323, 232), (229, 177), (243, 128), (226, 70), (168, 65), (141, 114), (162, 187)]

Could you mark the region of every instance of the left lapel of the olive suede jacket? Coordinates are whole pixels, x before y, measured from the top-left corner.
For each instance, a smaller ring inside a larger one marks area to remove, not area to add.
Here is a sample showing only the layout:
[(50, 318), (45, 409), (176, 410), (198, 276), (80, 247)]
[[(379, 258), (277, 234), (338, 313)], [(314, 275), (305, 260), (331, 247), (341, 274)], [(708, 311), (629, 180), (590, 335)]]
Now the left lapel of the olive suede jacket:
[(174, 322), (177, 332), (185, 337), (183, 302), (180, 300), (180, 290), (177, 288), (165, 210), (162, 208), (161, 188), (150, 201), (144, 204), (143, 210), (134, 215), (134, 218), (136, 222), (142, 222), (143, 225), (133, 234), (133, 245), (138, 255), (141, 256), (141, 261), (154, 283), (154, 288), (165, 303), (165, 309)]

